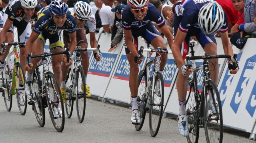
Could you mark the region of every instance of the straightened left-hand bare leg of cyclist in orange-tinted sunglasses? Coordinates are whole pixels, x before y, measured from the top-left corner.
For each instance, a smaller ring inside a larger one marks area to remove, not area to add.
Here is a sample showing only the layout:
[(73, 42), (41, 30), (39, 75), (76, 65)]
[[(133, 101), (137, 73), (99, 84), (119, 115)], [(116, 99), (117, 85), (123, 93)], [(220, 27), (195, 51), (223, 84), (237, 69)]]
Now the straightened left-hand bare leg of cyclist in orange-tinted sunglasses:
[(138, 65), (134, 61), (134, 55), (126, 54), (127, 59), (130, 64), (130, 78), (129, 78), (129, 86), (131, 91), (132, 98), (137, 97), (138, 95)]

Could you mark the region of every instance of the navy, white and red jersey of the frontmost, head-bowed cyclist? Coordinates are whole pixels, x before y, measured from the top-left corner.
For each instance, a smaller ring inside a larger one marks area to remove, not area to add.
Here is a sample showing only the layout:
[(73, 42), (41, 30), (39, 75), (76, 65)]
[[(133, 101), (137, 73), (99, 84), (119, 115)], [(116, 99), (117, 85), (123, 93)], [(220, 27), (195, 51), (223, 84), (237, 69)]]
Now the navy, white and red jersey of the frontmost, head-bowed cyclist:
[[(188, 27), (198, 25), (198, 14), (200, 8), (213, 0), (182, 0), (178, 2), (175, 7), (174, 25), (179, 25), (179, 29), (183, 32), (188, 32)], [(225, 15), (225, 22), (222, 25), (220, 32), (226, 32), (228, 30), (227, 17)]]

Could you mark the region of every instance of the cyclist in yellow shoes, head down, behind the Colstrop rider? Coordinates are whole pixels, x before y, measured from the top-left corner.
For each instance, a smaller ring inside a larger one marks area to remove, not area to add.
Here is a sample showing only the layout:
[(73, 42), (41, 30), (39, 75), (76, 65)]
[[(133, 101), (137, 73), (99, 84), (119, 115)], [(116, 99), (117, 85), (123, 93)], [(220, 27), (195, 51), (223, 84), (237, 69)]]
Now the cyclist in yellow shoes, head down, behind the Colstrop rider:
[[(90, 31), (90, 45), (91, 47), (97, 47), (98, 43), (95, 37), (95, 30), (96, 30), (96, 22), (95, 22), (95, 17), (92, 14), (92, 8), (89, 4), (86, 2), (76, 2), (74, 5), (74, 8), (69, 8), (70, 12), (74, 14), (76, 18), (76, 45), (81, 46), (82, 48), (87, 48), (87, 39), (85, 35), (85, 30), (84, 28), (87, 27), (89, 28)], [(64, 35), (64, 44), (65, 47), (68, 47), (69, 43), (69, 35), (68, 31), (63, 32)], [(97, 55), (96, 51), (93, 51), (94, 58), (97, 61), (100, 61), (100, 55)], [(86, 83), (86, 78), (87, 78), (87, 73), (88, 73), (88, 68), (89, 68), (89, 56), (88, 56), (88, 51), (84, 51), (81, 53), (82, 57), (82, 67), (84, 69), (84, 75), (85, 75), (85, 83)], [(65, 64), (62, 64), (62, 82), (60, 86), (60, 90), (62, 93), (62, 98), (63, 102), (66, 102), (66, 76), (68, 73), (68, 66)], [(83, 86), (81, 86), (83, 88)], [(83, 89), (82, 89), (83, 90)], [(86, 97), (90, 97), (90, 89), (89, 86), (86, 84)]]

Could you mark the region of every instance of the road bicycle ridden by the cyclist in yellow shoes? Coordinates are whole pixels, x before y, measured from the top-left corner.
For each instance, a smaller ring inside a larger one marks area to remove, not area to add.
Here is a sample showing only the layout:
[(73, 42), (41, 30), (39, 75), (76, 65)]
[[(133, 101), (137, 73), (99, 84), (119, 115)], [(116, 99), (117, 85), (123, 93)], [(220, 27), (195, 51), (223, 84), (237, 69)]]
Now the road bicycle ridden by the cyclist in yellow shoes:
[(74, 106), (74, 100), (76, 101), (76, 112), (80, 123), (84, 121), (84, 114), (86, 108), (86, 88), (85, 88), (85, 76), (84, 70), (81, 65), (81, 52), (82, 51), (97, 51), (100, 55), (100, 45), (97, 48), (81, 48), (76, 47), (76, 53), (71, 57), (72, 64), (68, 70), (68, 76), (66, 78), (66, 114), (68, 118), (71, 118)]

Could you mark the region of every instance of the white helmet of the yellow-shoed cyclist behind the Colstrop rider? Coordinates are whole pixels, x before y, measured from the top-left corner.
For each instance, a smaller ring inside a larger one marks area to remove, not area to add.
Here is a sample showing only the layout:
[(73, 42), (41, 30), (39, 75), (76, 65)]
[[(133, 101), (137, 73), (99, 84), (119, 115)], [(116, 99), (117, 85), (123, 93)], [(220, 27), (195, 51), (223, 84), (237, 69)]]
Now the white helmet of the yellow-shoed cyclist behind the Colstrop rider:
[(78, 1), (74, 6), (75, 14), (83, 19), (88, 20), (92, 15), (92, 7), (86, 2)]

